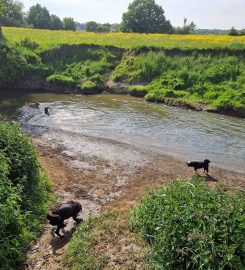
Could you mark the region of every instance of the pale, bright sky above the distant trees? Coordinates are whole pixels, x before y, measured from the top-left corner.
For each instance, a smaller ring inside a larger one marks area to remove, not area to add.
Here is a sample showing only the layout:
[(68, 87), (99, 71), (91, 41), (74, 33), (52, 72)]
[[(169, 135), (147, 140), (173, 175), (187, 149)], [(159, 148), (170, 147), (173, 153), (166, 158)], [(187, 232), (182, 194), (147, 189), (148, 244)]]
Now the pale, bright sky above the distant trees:
[[(202, 29), (245, 29), (245, 0), (155, 0), (173, 26), (183, 19), (194, 21)], [(78, 22), (120, 23), (132, 0), (22, 0), (25, 10), (36, 3), (60, 18)]]

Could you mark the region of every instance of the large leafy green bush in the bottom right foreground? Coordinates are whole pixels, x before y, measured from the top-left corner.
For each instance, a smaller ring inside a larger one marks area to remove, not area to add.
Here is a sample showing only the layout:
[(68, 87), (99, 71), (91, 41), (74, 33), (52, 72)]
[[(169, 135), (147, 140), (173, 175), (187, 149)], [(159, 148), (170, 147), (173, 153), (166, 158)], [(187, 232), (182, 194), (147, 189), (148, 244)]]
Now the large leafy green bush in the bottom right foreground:
[(147, 195), (133, 226), (152, 245), (155, 269), (244, 269), (244, 199), (178, 180)]

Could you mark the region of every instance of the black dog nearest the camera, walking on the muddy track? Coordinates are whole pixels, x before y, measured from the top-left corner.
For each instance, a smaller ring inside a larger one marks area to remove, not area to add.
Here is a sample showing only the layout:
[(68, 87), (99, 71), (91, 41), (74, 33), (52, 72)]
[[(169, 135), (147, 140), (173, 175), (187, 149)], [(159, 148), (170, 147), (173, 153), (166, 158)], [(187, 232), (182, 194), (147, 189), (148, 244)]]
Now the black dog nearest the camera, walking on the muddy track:
[(77, 218), (78, 213), (82, 210), (82, 206), (79, 202), (68, 201), (65, 203), (60, 203), (51, 208), (47, 214), (47, 219), (49, 223), (53, 226), (57, 226), (55, 233), (60, 237), (60, 229), (65, 227), (64, 220), (72, 217), (77, 223), (82, 220)]

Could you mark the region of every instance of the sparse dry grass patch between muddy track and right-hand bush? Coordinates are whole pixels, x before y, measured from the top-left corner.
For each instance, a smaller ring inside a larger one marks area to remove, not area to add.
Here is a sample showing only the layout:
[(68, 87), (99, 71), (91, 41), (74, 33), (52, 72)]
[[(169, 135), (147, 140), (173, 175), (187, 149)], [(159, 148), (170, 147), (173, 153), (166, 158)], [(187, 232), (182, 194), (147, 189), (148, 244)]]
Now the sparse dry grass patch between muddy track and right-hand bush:
[(125, 214), (106, 212), (90, 218), (73, 235), (64, 260), (72, 270), (150, 270), (148, 245), (133, 233)]

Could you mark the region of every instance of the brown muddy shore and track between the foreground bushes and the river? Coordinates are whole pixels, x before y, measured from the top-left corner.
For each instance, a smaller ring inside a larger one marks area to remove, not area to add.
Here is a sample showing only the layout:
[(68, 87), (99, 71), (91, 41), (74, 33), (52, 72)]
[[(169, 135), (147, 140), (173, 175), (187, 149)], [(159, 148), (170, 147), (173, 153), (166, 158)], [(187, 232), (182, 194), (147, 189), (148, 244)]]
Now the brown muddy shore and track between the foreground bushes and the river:
[[(123, 163), (112, 165), (101, 157), (84, 156), (83, 167), (76, 166), (77, 160), (65, 154), (64, 149), (53, 148), (36, 141), (39, 160), (53, 182), (53, 190), (59, 201), (81, 202), (81, 217), (87, 219), (103, 210), (120, 209), (129, 211), (144, 194), (146, 188), (160, 186), (176, 178), (191, 178), (193, 169), (185, 161), (170, 156), (149, 154), (142, 166), (128, 167)], [(245, 188), (245, 175), (213, 168), (211, 165), (210, 185), (223, 183), (228, 189)], [(52, 227), (45, 225), (40, 239), (30, 248), (26, 269), (58, 270), (75, 225), (72, 221), (65, 227), (66, 237), (54, 237)]]

